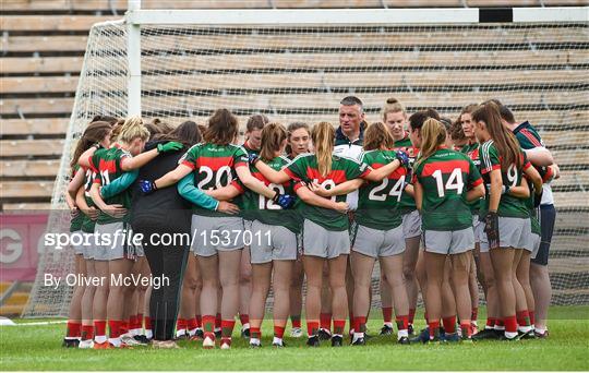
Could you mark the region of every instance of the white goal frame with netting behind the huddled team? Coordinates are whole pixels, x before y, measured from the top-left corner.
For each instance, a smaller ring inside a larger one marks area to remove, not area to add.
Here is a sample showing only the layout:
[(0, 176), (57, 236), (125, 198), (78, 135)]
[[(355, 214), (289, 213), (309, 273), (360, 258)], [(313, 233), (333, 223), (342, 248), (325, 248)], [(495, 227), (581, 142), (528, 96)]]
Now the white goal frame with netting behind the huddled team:
[[(69, 231), (68, 164), (95, 115), (205, 123), (226, 107), (288, 124), (337, 125), (357, 95), (366, 120), (388, 97), (456, 119), (489, 98), (540, 130), (561, 167), (551, 249), (554, 304), (589, 302), (588, 8), (142, 10), (92, 27), (48, 232)], [(70, 248), (44, 248), (24, 316), (67, 316)], [(377, 279), (377, 270), (374, 279)], [(374, 281), (376, 284), (376, 281)], [(378, 304), (375, 297), (374, 304)]]

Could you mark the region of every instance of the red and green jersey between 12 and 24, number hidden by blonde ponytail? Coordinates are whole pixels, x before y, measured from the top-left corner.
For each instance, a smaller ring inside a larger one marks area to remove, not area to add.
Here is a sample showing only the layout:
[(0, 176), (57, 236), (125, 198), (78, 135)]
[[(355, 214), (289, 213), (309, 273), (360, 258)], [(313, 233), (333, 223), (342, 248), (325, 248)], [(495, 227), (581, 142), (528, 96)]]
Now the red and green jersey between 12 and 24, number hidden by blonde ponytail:
[[(315, 181), (325, 189), (334, 188), (347, 180), (361, 178), (370, 172), (364, 164), (339, 156), (332, 156), (332, 171), (323, 177), (318, 171), (317, 158), (314, 154), (301, 154), (292, 160), (285, 169), (292, 179), (299, 181)], [(337, 202), (345, 202), (346, 195), (332, 197)], [(348, 229), (348, 216), (329, 208), (323, 208), (304, 204), (301, 208), (304, 218), (332, 231), (342, 231)]]

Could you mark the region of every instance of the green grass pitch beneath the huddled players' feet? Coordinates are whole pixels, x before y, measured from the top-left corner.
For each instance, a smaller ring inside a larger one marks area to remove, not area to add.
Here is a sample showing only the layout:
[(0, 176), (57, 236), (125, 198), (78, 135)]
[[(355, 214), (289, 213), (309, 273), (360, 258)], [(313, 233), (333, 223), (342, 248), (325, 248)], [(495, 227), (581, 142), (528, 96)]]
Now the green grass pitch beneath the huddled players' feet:
[[(380, 312), (374, 311), (369, 332), (377, 334)], [(421, 315), (417, 328), (423, 326)], [(480, 323), (484, 321), (484, 310)], [(29, 321), (22, 321), (23, 323)], [(238, 323), (239, 324), (239, 323)], [(287, 334), (290, 325), (288, 325)], [(318, 349), (304, 346), (305, 338), (286, 337), (286, 349), (272, 344), (272, 322), (265, 322), (263, 348), (249, 349), (233, 337), (233, 348), (203, 350), (182, 341), (179, 350), (76, 350), (60, 347), (64, 324), (0, 327), (0, 370), (230, 370), (230, 371), (459, 371), (459, 370), (589, 370), (589, 306), (553, 306), (550, 338), (519, 342), (479, 341), (437, 346), (399, 346), (394, 337), (374, 337), (364, 347)], [(236, 327), (236, 333), (237, 333)]]

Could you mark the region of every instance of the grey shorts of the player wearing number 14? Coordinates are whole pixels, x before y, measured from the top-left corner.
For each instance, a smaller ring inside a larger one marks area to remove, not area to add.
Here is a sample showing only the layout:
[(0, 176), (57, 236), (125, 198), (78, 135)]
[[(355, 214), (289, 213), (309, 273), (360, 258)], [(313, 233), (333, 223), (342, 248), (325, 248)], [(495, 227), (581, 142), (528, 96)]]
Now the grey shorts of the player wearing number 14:
[(474, 249), (472, 228), (460, 230), (424, 230), (423, 244), (425, 251), (436, 254), (461, 254)]

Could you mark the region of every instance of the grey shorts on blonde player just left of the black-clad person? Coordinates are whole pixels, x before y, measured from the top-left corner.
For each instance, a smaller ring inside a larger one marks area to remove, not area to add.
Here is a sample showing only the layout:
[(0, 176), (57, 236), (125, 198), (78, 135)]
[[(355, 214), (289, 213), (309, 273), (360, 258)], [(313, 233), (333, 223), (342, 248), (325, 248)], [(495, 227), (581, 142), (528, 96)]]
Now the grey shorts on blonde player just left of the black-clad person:
[[(131, 242), (133, 237), (131, 225), (122, 221), (96, 224), (94, 230), (98, 236), (98, 244), (95, 245), (94, 250), (95, 261), (135, 258), (135, 246)], [(106, 242), (107, 237), (110, 238), (110, 242)]]

